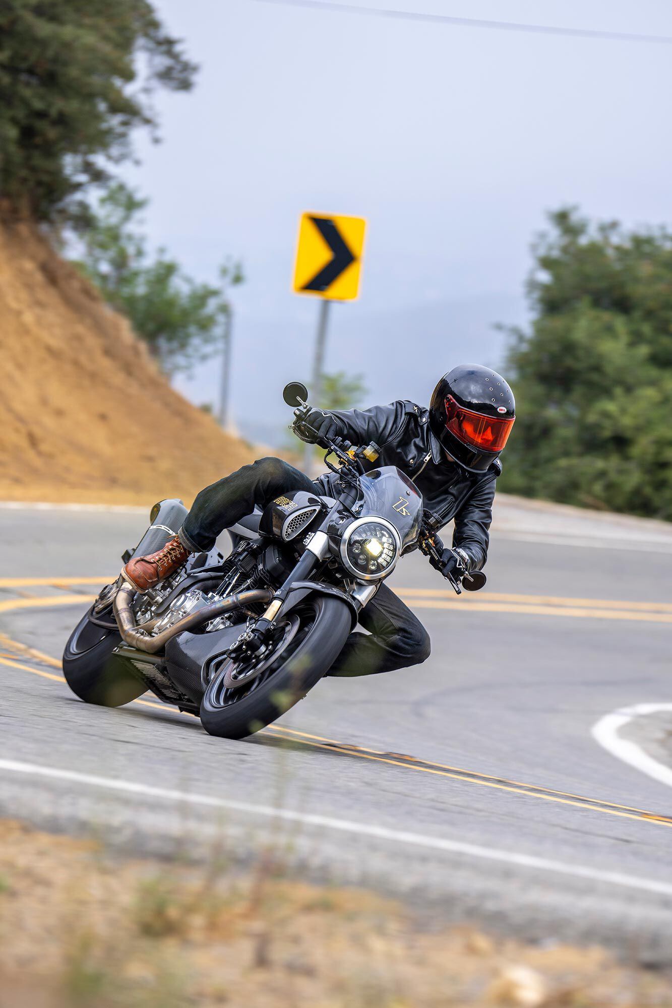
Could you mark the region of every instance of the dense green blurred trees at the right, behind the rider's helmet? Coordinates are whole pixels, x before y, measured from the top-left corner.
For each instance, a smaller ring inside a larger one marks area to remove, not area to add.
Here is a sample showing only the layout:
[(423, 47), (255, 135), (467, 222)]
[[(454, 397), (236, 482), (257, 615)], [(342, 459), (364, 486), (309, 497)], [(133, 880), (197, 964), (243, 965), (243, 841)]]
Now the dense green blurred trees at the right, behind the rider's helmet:
[(550, 215), (531, 332), (512, 330), (518, 419), (502, 489), (672, 519), (672, 233)]

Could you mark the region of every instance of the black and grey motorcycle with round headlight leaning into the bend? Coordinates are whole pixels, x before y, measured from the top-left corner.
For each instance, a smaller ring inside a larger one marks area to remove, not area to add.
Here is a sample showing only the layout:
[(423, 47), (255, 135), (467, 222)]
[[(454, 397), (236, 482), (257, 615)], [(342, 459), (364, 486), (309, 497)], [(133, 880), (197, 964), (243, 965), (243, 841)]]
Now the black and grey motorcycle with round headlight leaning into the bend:
[[(286, 386), (295, 432), (307, 430), (307, 398), (300, 383)], [(244, 738), (323, 677), (403, 554), (420, 548), (441, 570), (441, 518), (423, 509), (413, 481), (393, 466), (374, 468), (373, 443), (318, 444), (334, 496), (288, 492), (228, 530), (228, 556), (196, 554), (142, 594), (121, 575), (103, 589), (63, 656), (79, 698), (118, 707), (150, 690), (200, 717), (210, 735)], [(186, 516), (180, 500), (155, 504), (124, 563), (160, 549)], [(473, 572), (462, 587), (484, 582)]]

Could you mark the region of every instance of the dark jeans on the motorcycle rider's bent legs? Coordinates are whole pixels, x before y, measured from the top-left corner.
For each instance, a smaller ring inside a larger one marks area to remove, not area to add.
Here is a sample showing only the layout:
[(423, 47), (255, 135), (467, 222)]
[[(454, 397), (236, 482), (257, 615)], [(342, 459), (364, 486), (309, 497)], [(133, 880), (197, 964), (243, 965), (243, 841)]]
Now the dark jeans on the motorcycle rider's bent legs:
[[(225, 528), (289, 490), (322, 493), (282, 459), (260, 459), (202, 490), (180, 530), (192, 551), (212, 549)], [(430, 639), (420, 620), (386, 585), (361, 611), (368, 634), (351, 633), (328, 675), (370, 675), (417, 665), (429, 658)]]

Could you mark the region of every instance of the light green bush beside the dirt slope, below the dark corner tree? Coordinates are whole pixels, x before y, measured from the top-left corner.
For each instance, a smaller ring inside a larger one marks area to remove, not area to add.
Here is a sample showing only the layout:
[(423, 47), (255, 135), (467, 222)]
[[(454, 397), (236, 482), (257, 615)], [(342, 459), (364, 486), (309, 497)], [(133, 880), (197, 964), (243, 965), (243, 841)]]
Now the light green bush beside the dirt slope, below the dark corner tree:
[(78, 265), (174, 374), (221, 346), (227, 288), (243, 274), (238, 263), (224, 264), (219, 285), (212, 286), (187, 276), (164, 249), (152, 256), (134, 220), (146, 203), (121, 182), (110, 185), (81, 236)]

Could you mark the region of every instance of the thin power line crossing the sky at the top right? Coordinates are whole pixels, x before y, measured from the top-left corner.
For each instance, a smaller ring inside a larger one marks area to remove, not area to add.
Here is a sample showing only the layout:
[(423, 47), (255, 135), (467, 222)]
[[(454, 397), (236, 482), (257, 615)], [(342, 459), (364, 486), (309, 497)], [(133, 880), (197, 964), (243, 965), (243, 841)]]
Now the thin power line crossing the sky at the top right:
[(672, 35), (641, 35), (630, 31), (602, 31), (591, 28), (562, 28), (558, 25), (524, 24), (517, 21), (485, 21), (475, 17), (451, 17), (448, 14), (430, 14), (412, 10), (394, 10), (381, 7), (362, 7), (332, 0), (256, 0), (285, 7), (305, 7), (310, 10), (328, 10), (341, 14), (373, 14), (377, 17), (403, 21), (424, 21), (427, 24), (453, 24), (462, 28), (494, 28), (498, 31), (526, 31), (537, 35), (565, 35), (570, 38), (598, 38), (611, 42), (649, 42), (671, 45)]

